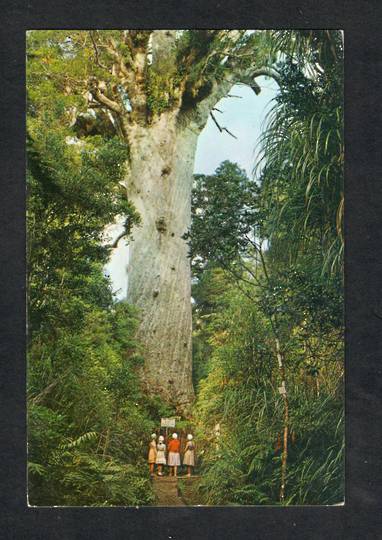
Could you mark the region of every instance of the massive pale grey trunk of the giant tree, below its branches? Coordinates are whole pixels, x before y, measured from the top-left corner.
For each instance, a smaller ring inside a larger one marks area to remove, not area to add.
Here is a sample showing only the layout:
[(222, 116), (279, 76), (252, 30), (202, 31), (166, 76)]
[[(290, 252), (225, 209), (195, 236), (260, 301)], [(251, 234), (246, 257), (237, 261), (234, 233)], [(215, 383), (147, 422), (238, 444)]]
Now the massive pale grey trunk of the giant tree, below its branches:
[(141, 216), (133, 230), (128, 301), (141, 310), (143, 383), (184, 412), (193, 400), (191, 273), (183, 235), (191, 220), (197, 131), (171, 111), (130, 130), (128, 197)]

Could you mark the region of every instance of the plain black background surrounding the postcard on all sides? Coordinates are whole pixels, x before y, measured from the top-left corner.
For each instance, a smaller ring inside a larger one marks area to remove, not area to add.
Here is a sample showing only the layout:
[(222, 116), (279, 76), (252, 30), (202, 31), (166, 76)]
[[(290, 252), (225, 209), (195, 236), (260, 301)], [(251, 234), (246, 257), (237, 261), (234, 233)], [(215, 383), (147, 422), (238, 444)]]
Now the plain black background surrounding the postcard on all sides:
[[(378, 0), (2, 2), (0, 538), (382, 538), (380, 5)], [(344, 29), (347, 433), (344, 507), (28, 508), (25, 31), (36, 28)]]

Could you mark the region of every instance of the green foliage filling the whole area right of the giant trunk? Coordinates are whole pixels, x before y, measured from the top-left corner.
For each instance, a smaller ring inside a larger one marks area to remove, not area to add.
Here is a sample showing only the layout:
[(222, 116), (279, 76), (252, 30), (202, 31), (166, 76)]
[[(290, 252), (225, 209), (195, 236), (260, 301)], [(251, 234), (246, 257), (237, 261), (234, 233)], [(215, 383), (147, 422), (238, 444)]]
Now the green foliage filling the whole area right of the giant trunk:
[(333, 504), (344, 494), (342, 43), (268, 38), (280, 91), (256, 181), (227, 162), (195, 179), (198, 502), (280, 504), (287, 427), (283, 504)]

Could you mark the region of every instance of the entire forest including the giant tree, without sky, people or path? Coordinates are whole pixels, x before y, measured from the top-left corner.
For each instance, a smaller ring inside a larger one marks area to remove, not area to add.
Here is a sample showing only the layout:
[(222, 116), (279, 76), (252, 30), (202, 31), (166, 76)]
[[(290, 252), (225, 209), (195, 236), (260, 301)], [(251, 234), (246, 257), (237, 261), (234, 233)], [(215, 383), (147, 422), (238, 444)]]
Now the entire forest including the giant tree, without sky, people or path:
[[(192, 177), (211, 109), (262, 75), (250, 177)], [(173, 415), (196, 441), (189, 504), (343, 501), (343, 163), (340, 32), (28, 33), (30, 504), (155, 504), (147, 445)]]

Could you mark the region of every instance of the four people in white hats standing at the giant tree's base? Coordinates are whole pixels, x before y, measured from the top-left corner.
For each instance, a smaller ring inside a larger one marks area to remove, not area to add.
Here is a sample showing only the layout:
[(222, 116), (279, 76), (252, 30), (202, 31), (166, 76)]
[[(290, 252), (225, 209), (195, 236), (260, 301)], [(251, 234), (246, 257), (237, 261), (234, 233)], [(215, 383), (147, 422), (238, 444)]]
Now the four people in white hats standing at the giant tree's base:
[[(151, 476), (154, 475), (155, 465), (157, 465), (158, 476), (164, 475), (164, 465), (169, 466), (170, 476), (177, 476), (178, 467), (181, 465), (180, 440), (178, 439), (178, 434), (172, 434), (166, 448), (163, 435), (159, 435), (157, 442), (156, 433), (153, 433), (149, 445), (148, 462)], [(187, 435), (187, 442), (183, 451), (183, 465), (187, 466), (187, 476), (191, 476), (192, 467), (195, 466), (195, 445), (191, 434)]]

